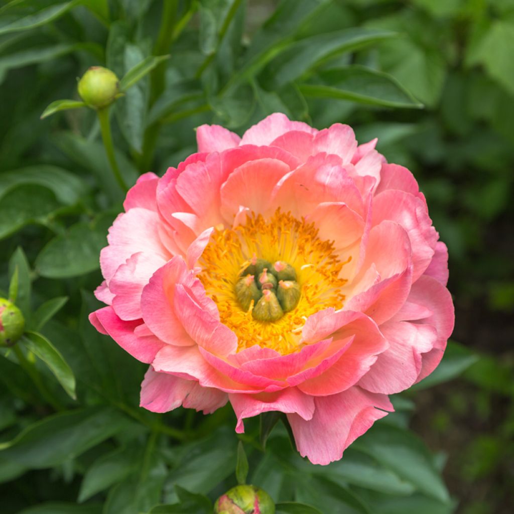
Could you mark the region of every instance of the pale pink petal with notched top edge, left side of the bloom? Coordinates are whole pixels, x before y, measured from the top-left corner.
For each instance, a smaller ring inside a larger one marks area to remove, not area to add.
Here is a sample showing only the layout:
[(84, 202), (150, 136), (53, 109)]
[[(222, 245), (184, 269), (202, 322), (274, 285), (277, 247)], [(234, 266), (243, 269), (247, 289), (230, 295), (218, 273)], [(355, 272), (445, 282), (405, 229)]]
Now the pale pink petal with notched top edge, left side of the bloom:
[(122, 264), (111, 279), (109, 288), (115, 295), (112, 305), (116, 314), (125, 321), (142, 317), (141, 293), (150, 277), (166, 261), (159, 255), (138, 252)]

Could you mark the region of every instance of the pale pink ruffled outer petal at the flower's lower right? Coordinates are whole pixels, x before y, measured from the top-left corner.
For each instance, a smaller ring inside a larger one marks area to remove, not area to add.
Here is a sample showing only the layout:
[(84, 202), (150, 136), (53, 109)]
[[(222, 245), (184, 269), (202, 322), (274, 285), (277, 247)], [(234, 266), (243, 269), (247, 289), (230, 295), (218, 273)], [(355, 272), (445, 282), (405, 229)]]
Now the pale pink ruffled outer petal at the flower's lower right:
[(378, 356), (359, 386), (373, 393), (395, 394), (412, 386), (421, 371), (422, 355), (432, 350), (437, 331), (431, 325), (388, 321), (380, 331), (389, 348)]

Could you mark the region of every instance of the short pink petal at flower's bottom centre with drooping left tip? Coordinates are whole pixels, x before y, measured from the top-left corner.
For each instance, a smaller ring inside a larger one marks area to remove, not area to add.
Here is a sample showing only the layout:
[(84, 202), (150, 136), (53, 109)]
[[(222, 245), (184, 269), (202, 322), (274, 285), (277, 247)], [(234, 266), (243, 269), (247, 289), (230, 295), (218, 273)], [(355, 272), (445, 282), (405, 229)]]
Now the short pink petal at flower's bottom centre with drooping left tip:
[(238, 434), (245, 431), (243, 419), (258, 416), (263, 412), (295, 413), (305, 420), (312, 419), (314, 414), (314, 398), (301, 393), (297, 388), (287, 388), (276, 393), (232, 393), (229, 400), (237, 416), (235, 431)]

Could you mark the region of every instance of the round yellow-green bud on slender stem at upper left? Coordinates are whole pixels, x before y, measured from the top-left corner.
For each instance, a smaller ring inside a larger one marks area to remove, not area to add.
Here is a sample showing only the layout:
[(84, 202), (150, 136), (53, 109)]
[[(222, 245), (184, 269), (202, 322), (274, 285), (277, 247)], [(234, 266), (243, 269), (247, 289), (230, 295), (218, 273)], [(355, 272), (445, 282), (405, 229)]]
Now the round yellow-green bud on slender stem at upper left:
[(113, 103), (119, 92), (118, 77), (110, 69), (102, 66), (91, 66), (79, 80), (80, 97), (95, 109)]

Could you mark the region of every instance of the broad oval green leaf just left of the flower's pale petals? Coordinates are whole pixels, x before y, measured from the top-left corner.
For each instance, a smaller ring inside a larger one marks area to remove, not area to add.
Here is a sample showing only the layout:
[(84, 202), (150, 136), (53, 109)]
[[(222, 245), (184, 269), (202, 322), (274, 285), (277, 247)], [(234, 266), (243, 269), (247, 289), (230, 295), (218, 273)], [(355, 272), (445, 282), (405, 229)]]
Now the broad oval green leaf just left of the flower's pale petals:
[(35, 260), (38, 273), (50, 279), (78, 277), (100, 267), (100, 250), (106, 246), (105, 231), (78, 223), (65, 235), (54, 237)]

